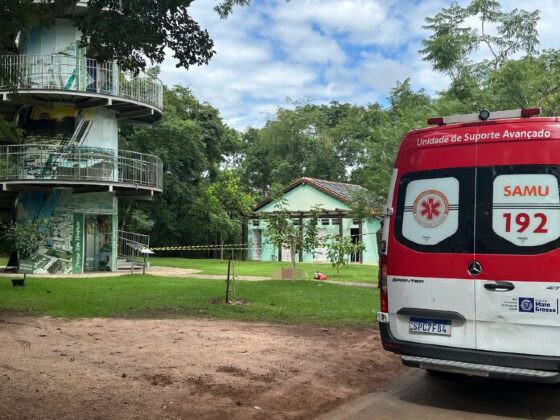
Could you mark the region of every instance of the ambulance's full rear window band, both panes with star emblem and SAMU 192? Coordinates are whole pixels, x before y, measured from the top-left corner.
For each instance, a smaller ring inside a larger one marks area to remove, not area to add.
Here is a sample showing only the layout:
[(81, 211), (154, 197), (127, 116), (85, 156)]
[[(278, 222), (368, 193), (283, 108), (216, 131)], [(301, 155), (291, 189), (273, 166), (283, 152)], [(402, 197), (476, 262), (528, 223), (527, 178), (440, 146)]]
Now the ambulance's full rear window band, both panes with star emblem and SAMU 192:
[(559, 179), (560, 166), (546, 165), (406, 174), (395, 239), (420, 252), (531, 255), (560, 248)]

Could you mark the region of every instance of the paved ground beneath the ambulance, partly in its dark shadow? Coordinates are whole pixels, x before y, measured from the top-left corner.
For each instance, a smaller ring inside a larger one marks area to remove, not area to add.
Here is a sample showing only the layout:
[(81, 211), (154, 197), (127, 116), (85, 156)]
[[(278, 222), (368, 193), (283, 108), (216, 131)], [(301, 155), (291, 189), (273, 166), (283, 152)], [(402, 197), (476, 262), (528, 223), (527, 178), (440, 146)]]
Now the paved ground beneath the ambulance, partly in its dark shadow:
[(560, 418), (560, 386), (407, 368), (392, 385), (364, 395), (323, 420)]

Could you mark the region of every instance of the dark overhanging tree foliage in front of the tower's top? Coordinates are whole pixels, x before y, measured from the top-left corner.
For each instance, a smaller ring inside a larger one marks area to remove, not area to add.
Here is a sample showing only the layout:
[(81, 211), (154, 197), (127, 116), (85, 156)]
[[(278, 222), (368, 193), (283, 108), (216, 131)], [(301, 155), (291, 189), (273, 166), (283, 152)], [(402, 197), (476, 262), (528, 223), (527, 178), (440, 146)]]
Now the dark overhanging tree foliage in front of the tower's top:
[[(78, 0), (11, 0), (0, 5), (0, 51), (14, 51), (21, 30), (51, 24)], [(193, 0), (88, 0), (87, 12), (73, 19), (82, 33), (82, 46), (99, 61), (116, 60), (138, 72), (148, 61), (161, 63), (166, 50), (177, 67), (206, 64), (214, 55), (207, 30), (189, 14)], [(224, 0), (215, 7), (222, 18), (250, 0)]]

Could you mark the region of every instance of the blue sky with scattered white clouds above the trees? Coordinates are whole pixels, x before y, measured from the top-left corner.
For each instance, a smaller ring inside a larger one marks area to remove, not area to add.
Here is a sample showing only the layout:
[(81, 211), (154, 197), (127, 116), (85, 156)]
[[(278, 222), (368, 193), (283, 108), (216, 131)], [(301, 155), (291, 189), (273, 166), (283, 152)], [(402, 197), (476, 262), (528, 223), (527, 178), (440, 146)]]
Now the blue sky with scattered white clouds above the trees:
[[(215, 42), (210, 64), (161, 66), (168, 85), (189, 87), (238, 130), (262, 127), (279, 106), (331, 101), (387, 104), (397, 81), (435, 94), (449, 83), (418, 52), (424, 18), (448, 0), (253, 0), (225, 20), (217, 0), (195, 0), (191, 15)], [(459, 1), (466, 4), (467, 0)], [(504, 10), (541, 10), (540, 48), (560, 48), (558, 0), (502, 0)], [(484, 58), (486, 52), (477, 53)]]

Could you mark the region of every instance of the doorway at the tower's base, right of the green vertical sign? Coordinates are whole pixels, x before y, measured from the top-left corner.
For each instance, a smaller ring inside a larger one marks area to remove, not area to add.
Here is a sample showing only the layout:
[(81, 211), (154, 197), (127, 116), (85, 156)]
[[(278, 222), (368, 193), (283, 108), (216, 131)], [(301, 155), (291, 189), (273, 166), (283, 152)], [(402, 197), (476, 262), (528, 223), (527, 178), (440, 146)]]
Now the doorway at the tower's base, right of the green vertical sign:
[(84, 271), (111, 271), (113, 257), (113, 217), (86, 215)]

